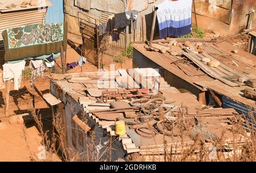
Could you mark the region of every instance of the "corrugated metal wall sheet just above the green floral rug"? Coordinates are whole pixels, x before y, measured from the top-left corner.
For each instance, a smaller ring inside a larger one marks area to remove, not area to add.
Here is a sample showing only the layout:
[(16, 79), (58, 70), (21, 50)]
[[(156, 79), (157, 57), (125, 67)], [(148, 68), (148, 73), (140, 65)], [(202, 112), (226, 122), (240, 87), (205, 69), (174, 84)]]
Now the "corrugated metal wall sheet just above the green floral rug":
[[(43, 23), (46, 11), (47, 9), (32, 9), (0, 13), (0, 33), (7, 28)], [(3, 40), (2, 34), (0, 35), (0, 40)]]

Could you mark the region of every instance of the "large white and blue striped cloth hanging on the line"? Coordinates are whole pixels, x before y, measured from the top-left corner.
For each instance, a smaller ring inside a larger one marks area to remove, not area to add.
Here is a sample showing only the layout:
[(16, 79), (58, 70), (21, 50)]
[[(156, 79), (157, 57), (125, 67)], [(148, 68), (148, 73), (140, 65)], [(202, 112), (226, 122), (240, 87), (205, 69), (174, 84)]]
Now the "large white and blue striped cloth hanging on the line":
[(192, 0), (164, 1), (157, 7), (160, 39), (191, 32)]

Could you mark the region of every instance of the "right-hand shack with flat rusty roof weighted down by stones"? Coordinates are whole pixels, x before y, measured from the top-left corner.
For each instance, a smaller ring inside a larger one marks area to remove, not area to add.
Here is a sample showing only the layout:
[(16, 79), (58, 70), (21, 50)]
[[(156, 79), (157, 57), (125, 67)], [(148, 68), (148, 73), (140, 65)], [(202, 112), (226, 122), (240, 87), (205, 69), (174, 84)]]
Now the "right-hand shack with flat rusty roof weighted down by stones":
[[(175, 40), (178, 42), (175, 43), (176, 46), (172, 45)], [(166, 53), (148, 51), (144, 48), (144, 43), (133, 43), (133, 67), (158, 68), (171, 86), (179, 88), (181, 92), (191, 92), (201, 104), (207, 105), (214, 100), (212, 103), (216, 106), (234, 108), (238, 113), (246, 115), (252, 111), (255, 117), (255, 100), (243, 96), (245, 88), (254, 88), (243, 82), (256, 79), (256, 57), (225, 41), (204, 43), (203, 40), (193, 39), (190, 40), (193, 50), (186, 50), (186, 53), (182, 50), (186, 49), (185, 41), (189, 39), (171, 39), (163, 43), (155, 41), (170, 47)], [(202, 43), (204, 53), (198, 53), (197, 47)], [(232, 53), (234, 49), (238, 52)], [(209, 67), (202, 62), (203, 58), (216, 60), (220, 62), (220, 66)]]

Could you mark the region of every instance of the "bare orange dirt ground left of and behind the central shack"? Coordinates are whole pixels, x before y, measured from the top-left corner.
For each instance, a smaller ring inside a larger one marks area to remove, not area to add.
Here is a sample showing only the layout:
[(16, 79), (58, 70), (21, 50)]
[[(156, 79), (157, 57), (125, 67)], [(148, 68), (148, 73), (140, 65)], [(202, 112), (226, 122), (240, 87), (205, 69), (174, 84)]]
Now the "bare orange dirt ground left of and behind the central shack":
[[(113, 51), (115, 56), (121, 56), (121, 50)], [(68, 46), (67, 49), (67, 63), (76, 62), (80, 58), (80, 55), (75, 49)], [(132, 60), (126, 57), (122, 57), (124, 61), (121, 63), (115, 63), (115, 68), (130, 68), (132, 67)], [(104, 56), (104, 68), (109, 70), (109, 65), (113, 64), (113, 58), (109, 55)], [(61, 73), (60, 67), (61, 60), (56, 60), (56, 73)], [(28, 66), (26, 66), (28, 69)], [(97, 71), (97, 67), (86, 62), (82, 66), (82, 72)], [(49, 79), (47, 74), (51, 70), (48, 70), (44, 74), (44, 78), (36, 79), (35, 86), (43, 94), (49, 92)], [(77, 66), (75, 69), (71, 69), (68, 73), (80, 73), (81, 67)], [(13, 115), (20, 115), (22, 113), (31, 113), (32, 95), (35, 95), (35, 109), (36, 113), (39, 113), (44, 118), (44, 129), (51, 129), (51, 109), (47, 106), (46, 102), (40, 97), (40, 95), (33, 91), (30, 86), (30, 78), (23, 78), (21, 87), (18, 91), (13, 90), (14, 86), (11, 83), (10, 99), (8, 116), (5, 116), (5, 97), (6, 90), (0, 90), (0, 161), (39, 161), (38, 160), (38, 147), (42, 143), (42, 137), (39, 135), (39, 131), (36, 128), (35, 123), (31, 124), (15, 124), (11, 125), (9, 119)], [(60, 161), (56, 155), (51, 158), (51, 161)]]

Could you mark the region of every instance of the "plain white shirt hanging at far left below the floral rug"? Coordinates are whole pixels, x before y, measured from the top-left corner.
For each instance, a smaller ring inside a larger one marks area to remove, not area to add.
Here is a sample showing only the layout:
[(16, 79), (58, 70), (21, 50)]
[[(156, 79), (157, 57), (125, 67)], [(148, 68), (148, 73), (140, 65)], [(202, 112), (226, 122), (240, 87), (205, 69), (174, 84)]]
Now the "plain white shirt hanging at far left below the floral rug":
[(9, 81), (13, 79), (14, 90), (19, 90), (20, 82), (22, 79), (22, 71), (25, 68), (26, 61), (20, 61), (15, 64), (3, 65), (3, 81)]

